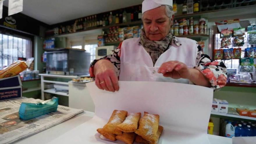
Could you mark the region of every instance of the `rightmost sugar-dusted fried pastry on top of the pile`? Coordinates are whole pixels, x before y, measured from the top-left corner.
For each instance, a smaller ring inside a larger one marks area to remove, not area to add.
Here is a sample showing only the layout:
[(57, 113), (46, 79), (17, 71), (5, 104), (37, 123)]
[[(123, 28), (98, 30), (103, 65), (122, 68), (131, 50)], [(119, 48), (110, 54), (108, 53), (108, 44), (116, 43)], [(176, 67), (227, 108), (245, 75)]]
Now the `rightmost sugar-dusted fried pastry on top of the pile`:
[(147, 141), (155, 143), (157, 141), (157, 130), (159, 126), (159, 115), (144, 112), (143, 117), (139, 121), (139, 128), (135, 131)]

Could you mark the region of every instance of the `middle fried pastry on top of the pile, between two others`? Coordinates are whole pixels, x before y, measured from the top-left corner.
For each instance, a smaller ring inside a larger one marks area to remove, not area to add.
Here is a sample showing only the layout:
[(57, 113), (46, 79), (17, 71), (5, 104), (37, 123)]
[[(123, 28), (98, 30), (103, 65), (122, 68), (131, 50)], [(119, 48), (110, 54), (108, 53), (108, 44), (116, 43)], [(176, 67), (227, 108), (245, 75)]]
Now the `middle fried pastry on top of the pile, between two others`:
[(141, 118), (141, 113), (129, 113), (125, 121), (117, 125), (117, 129), (123, 132), (134, 132), (138, 129), (138, 122)]

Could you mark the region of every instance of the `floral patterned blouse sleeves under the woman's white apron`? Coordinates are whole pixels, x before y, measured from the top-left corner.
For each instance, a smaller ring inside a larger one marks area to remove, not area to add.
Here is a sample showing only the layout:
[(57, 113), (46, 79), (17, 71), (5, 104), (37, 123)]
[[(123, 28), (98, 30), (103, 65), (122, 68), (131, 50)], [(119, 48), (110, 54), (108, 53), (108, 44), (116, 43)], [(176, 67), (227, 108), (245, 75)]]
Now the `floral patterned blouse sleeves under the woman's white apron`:
[[(176, 40), (175, 36), (173, 36), (173, 40), (170, 45), (180, 46), (181, 44)], [(109, 60), (115, 66), (115, 70), (117, 75), (120, 74), (120, 56), (121, 56), (121, 45), (119, 44), (113, 53), (104, 56), (99, 59), (95, 59), (90, 65), (90, 76), (95, 77), (93, 73), (93, 66), (95, 63), (101, 59)], [(205, 77), (211, 83), (211, 88), (214, 90), (220, 89), (226, 85), (227, 81), (227, 68), (222, 61), (212, 61), (211, 58), (202, 52), (202, 48), (197, 44), (197, 58), (196, 58), (196, 66), (194, 68), (200, 70)], [(193, 83), (191, 83), (193, 84)]]

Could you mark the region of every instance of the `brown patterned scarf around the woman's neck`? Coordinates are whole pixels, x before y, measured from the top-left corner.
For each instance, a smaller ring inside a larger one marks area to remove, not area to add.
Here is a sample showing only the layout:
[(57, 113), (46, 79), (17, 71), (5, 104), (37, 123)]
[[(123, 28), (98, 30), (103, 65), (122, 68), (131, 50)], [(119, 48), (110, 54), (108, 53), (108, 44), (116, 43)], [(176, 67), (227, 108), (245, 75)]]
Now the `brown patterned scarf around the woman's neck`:
[(140, 43), (145, 48), (147, 53), (150, 55), (155, 65), (157, 59), (164, 51), (167, 50), (170, 44), (173, 43), (173, 34), (171, 31), (161, 41), (151, 41), (147, 39), (144, 29), (141, 30), (141, 41)]

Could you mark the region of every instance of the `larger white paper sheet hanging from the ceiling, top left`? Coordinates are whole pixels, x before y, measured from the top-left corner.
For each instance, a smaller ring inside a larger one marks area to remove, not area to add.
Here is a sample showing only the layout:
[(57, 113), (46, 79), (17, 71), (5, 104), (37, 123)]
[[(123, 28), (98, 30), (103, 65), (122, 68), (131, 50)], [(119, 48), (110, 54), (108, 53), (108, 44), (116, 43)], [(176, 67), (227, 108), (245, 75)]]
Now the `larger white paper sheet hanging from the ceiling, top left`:
[(22, 12), (23, 0), (9, 0), (8, 16)]

